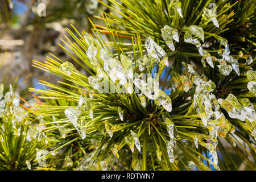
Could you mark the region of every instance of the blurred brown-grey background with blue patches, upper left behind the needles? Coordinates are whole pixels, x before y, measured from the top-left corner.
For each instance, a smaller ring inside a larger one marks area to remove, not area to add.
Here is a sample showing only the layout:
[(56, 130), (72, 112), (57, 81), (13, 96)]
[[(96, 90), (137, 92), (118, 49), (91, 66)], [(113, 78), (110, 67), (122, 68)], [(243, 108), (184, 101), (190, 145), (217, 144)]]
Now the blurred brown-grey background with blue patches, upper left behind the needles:
[(0, 59), (8, 52), (0, 70), (0, 82), (7, 85), (16, 81), (24, 92), (28, 86), (40, 88), (37, 82), (42, 77), (55, 82), (53, 75), (31, 67), (32, 60), (46, 60), (48, 52), (71, 61), (79, 69), (58, 45), (64, 45), (64, 28), (73, 24), (79, 31), (90, 32), (88, 18), (102, 24), (93, 17), (101, 16), (102, 11), (108, 12), (108, 7), (97, 0), (0, 0)]

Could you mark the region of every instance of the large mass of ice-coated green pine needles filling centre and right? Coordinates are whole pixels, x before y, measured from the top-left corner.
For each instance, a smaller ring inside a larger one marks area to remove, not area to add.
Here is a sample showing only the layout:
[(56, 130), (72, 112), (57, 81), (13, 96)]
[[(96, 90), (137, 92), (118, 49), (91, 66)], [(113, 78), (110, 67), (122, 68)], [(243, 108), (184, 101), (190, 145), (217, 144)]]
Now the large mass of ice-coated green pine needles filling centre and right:
[(105, 27), (66, 28), (60, 45), (88, 75), (51, 53), (33, 62), (64, 79), (30, 88), (45, 167), (254, 170), (256, 2), (109, 2), (115, 14), (96, 16)]

